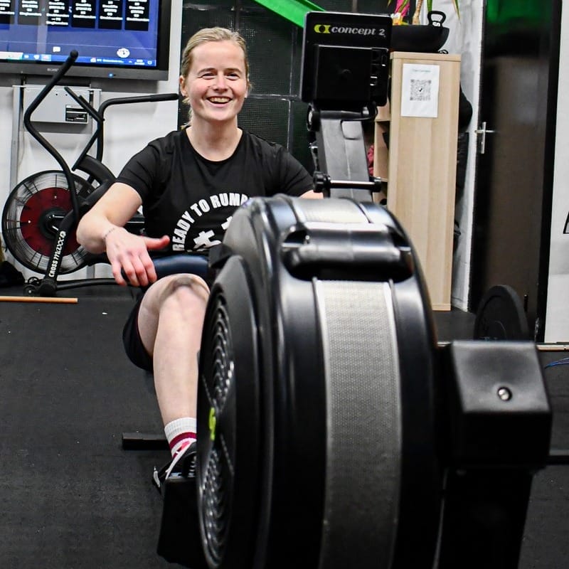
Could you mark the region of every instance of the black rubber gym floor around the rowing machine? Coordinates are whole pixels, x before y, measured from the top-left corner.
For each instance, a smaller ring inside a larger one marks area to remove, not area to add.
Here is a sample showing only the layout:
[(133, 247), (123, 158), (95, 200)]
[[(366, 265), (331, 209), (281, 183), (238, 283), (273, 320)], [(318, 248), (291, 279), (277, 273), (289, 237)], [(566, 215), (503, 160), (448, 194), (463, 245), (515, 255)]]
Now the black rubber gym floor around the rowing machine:
[[(121, 445), (124, 431), (162, 432), (151, 380), (122, 351), (132, 292), (60, 295), (78, 303), (0, 302), (0, 568), (169, 567), (156, 555), (161, 497), (150, 483), (169, 453)], [(435, 321), (440, 341), (472, 334), (472, 314), (440, 312)], [(545, 366), (565, 355), (541, 358)], [(569, 366), (544, 375), (553, 446), (568, 449)], [(538, 472), (520, 568), (567, 566), (568, 516), (569, 466)]]

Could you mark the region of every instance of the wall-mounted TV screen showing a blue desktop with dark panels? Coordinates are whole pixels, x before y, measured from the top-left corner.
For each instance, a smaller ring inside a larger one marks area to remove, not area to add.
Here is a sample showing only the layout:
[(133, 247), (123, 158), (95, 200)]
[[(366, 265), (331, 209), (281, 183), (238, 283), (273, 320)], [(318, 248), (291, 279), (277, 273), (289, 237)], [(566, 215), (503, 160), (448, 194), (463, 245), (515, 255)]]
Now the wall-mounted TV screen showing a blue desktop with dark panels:
[(171, 0), (0, 0), (0, 73), (168, 78)]

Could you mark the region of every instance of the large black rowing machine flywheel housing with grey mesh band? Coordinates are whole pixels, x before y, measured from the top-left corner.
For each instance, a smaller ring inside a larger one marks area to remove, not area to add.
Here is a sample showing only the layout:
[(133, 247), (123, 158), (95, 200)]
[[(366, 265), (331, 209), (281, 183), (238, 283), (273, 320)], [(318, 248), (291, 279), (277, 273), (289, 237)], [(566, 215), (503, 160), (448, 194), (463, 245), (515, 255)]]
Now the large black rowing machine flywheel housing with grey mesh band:
[(435, 336), (385, 209), (240, 208), (211, 289), (198, 512), (211, 568), (431, 568), (440, 517)]

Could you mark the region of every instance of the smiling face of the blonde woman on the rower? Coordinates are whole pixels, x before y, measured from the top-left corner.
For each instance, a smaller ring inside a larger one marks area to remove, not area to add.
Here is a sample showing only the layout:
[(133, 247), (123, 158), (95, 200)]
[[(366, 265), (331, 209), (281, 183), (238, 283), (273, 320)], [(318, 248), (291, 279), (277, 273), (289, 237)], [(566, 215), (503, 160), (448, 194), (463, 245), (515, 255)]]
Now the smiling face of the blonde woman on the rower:
[(247, 96), (243, 50), (233, 41), (197, 46), (188, 75), (180, 78), (180, 92), (191, 105), (192, 124), (234, 119)]

